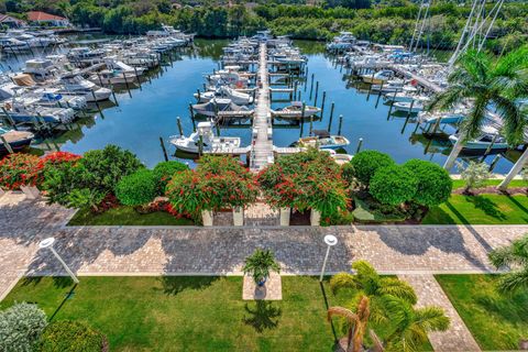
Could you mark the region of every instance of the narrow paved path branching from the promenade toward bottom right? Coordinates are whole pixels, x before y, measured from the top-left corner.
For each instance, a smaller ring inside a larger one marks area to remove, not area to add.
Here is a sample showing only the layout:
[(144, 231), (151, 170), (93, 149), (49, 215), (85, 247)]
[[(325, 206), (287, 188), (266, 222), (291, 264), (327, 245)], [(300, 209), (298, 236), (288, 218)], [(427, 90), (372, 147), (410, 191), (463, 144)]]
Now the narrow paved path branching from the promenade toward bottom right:
[(481, 351), (470, 330), (468, 330), (462, 318), (460, 318), (457, 312), (457, 309), (451, 305), (448, 296), (446, 296), (432, 275), (399, 275), (399, 278), (405, 279), (415, 288), (418, 296), (418, 307), (441, 307), (451, 319), (448, 331), (429, 333), (429, 341), (435, 351)]

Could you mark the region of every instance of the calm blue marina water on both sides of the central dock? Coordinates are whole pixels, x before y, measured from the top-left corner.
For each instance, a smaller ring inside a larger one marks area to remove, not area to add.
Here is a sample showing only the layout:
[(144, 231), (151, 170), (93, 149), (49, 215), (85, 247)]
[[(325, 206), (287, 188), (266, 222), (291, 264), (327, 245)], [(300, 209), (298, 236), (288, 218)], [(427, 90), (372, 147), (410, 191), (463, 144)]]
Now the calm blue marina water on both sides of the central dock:
[[(197, 40), (195, 48), (186, 50), (175, 57), (173, 66), (153, 74), (152, 82), (142, 85), (142, 89), (132, 89), (131, 95), (124, 90), (117, 94), (119, 107), (103, 110), (103, 114), (96, 113), (94, 118), (82, 119), (63, 135), (43, 141), (38, 146), (56, 148), (73, 153), (84, 153), (92, 148), (101, 148), (107, 144), (117, 144), (133, 151), (147, 166), (153, 166), (163, 161), (160, 138), (163, 138), (169, 154), (174, 147), (168, 144), (168, 138), (177, 134), (176, 117), (182, 118), (184, 132), (193, 131), (189, 117), (189, 102), (194, 102), (193, 94), (202, 88), (204, 75), (218, 67), (221, 48), (227, 41)], [(341, 134), (345, 135), (351, 145), (346, 152), (354, 154), (359, 139), (363, 139), (362, 148), (373, 148), (391, 154), (395, 161), (402, 163), (409, 158), (430, 160), (442, 164), (447, 158), (449, 148), (442, 146), (442, 141), (433, 141), (428, 146), (428, 140), (420, 135), (420, 130), (414, 133), (416, 124), (409, 120), (404, 130), (404, 117), (389, 117), (388, 107), (383, 103), (383, 98), (377, 101), (376, 95), (356, 89), (356, 82), (345, 77), (344, 69), (336, 66), (331, 57), (323, 53), (323, 45), (314, 42), (297, 42), (302, 53), (308, 56), (308, 81), (299, 82), (298, 89), (301, 100), (314, 103), (315, 88), (310, 99), (310, 80), (315, 74), (315, 81), (319, 81), (319, 97), (317, 105), (321, 105), (322, 92), (327, 92), (322, 119), (314, 121), (315, 130), (326, 130), (329, 127), (330, 106), (336, 105), (331, 132), (338, 133), (339, 116), (343, 116)], [(22, 65), (22, 59), (11, 59), (9, 65), (13, 68)], [(6, 63), (4, 63), (6, 64)], [(314, 85), (316, 86), (316, 85)], [(360, 86), (361, 88), (361, 86)], [(275, 99), (287, 100), (287, 95), (275, 95)], [(273, 108), (287, 105), (287, 102), (273, 102)], [(300, 135), (300, 128), (280, 127), (274, 129), (274, 144), (287, 146)], [(240, 136), (242, 145), (251, 141), (248, 127), (222, 128), (222, 135)], [(302, 135), (308, 135), (309, 122), (305, 122)], [(425, 150), (427, 148), (427, 153)], [(172, 155), (172, 158), (177, 158)], [(509, 157), (509, 155), (508, 155)], [(490, 163), (494, 158), (488, 156)], [(193, 164), (191, 161), (187, 161)], [(507, 172), (512, 163), (507, 157), (502, 157), (495, 172)]]

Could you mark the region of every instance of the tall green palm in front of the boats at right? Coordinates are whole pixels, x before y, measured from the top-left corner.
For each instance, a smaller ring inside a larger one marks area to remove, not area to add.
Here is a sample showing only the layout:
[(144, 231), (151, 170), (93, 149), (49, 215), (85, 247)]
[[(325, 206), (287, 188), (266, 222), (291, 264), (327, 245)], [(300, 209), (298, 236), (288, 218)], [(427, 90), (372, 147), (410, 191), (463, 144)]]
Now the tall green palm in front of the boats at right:
[(449, 88), (433, 97), (428, 110), (449, 110), (471, 101), (468, 117), (460, 127), (459, 140), (446, 161), (451, 169), (468, 140), (476, 138), (486, 122), (487, 109), (494, 106), (503, 120), (504, 134), (510, 145), (524, 142), (527, 111), (518, 103), (528, 97), (528, 47), (494, 59), (491, 54), (468, 51), (459, 58), (458, 66), (449, 76)]

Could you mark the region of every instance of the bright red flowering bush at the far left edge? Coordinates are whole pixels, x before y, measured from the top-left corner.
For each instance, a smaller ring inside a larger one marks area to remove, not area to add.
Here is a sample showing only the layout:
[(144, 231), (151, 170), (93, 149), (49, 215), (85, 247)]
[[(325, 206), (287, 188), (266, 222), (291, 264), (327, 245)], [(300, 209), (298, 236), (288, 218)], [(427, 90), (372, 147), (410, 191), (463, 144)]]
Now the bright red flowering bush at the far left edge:
[(0, 161), (0, 187), (20, 189), (20, 186), (35, 186), (40, 170), (38, 156), (23, 153), (9, 154)]

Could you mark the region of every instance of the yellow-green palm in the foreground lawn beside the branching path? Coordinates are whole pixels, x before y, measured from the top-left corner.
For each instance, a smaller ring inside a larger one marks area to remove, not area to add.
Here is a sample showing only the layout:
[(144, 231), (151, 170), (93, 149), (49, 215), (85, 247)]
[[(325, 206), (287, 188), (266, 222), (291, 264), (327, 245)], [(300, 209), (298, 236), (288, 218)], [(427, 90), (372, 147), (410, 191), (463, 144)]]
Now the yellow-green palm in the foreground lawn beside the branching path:
[[(369, 324), (376, 331), (380, 329), (380, 331), (386, 332), (386, 338), (383, 339), (386, 351), (416, 351), (427, 341), (428, 332), (448, 329), (449, 318), (444, 316), (441, 308), (414, 308), (417, 297), (413, 287), (406, 282), (395, 277), (380, 276), (374, 267), (365, 261), (353, 263), (352, 268), (355, 271), (355, 275), (339, 273), (330, 279), (330, 287), (333, 293), (345, 288), (352, 292), (351, 304), (346, 307), (361, 307), (361, 302), (365, 298), (369, 299)], [(355, 319), (353, 328), (356, 330), (353, 331), (361, 331), (364, 334), (366, 326), (359, 324), (359, 311), (358, 308), (355, 317), (350, 315), (344, 317)], [(336, 315), (338, 314), (336, 312)], [(354, 312), (352, 314), (354, 315)], [(375, 337), (372, 338), (373, 341), (377, 340), (374, 333), (371, 336)], [(355, 334), (352, 337), (355, 338)], [(349, 338), (349, 343), (351, 340), (355, 341), (353, 338)]]

